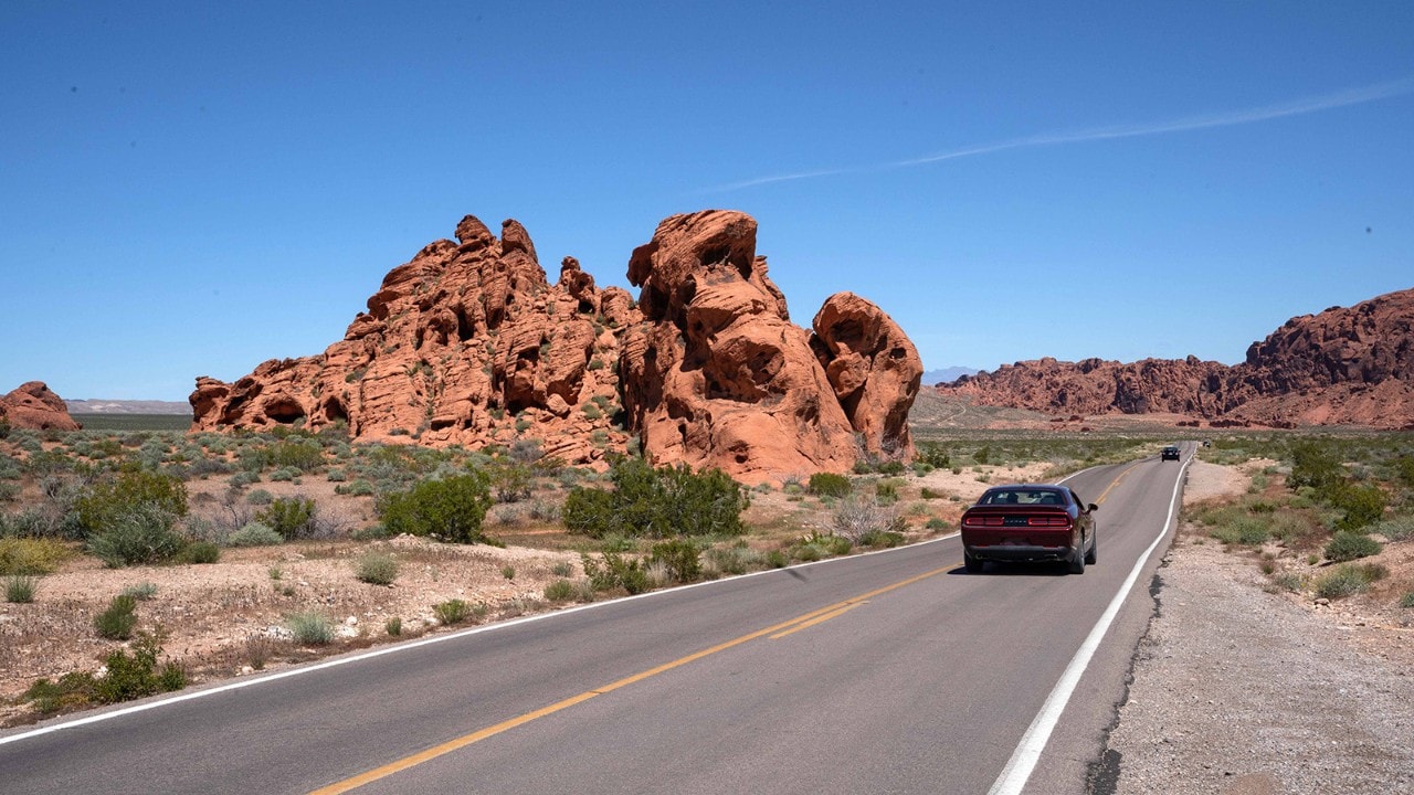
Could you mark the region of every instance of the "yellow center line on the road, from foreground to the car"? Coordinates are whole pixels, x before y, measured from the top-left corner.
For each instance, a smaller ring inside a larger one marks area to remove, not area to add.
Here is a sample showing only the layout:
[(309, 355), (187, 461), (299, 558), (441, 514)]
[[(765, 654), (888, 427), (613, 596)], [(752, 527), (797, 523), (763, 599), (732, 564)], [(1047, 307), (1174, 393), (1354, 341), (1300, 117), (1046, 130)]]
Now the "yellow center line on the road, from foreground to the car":
[[(602, 687), (595, 687), (592, 690), (585, 690), (584, 693), (580, 693), (577, 696), (570, 696), (568, 699), (564, 699), (561, 702), (556, 702), (556, 703), (553, 703), (550, 706), (546, 706), (546, 707), (540, 707), (540, 709), (537, 709), (534, 712), (527, 712), (525, 714), (512, 717), (510, 720), (503, 720), (503, 721), (495, 724), (495, 726), (488, 726), (488, 727), (481, 729), (478, 731), (472, 731), (471, 734), (464, 734), (461, 737), (457, 737), (455, 740), (448, 740), (447, 743), (443, 743), (440, 745), (433, 745), (431, 748), (427, 748), (424, 751), (419, 751), (416, 754), (403, 757), (403, 758), (400, 758), (397, 761), (393, 761), (393, 762), (389, 762), (386, 765), (373, 768), (373, 770), (370, 770), (368, 772), (361, 772), (359, 775), (355, 775), (352, 778), (345, 778), (344, 781), (337, 781), (337, 782), (334, 782), (334, 784), (331, 784), (328, 787), (321, 787), (320, 789), (312, 791), (310, 795), (334, 795), (337, 792), (348, 792), (351, 789), (358, 789), (359, 787), (363, 787), (365, 784), (372, 784), (372, 782), (375, 782), (375, 781), (378, 781), (380, 778), (387, 778), (389, 775), (393, 775), (395, 772), (400, 772), (400, 771), (404, 771), (407, 768), (420, 765), (423, 762), (436, 760), (437, 757), (450, 754), (450, 753), (457, 751), (460, 748), (465, 748), (467, 745), (471, 745), (474, 743), (479, 743), (479, 741), (482, 741), (482, 740), (485, 740), (488, 737), (495, 737), (496, 734), (501, 734), (503, 731), (509, 731), (510, 729), (515, 729), (518, 726), (525, 726), (526, 723), (530, 723), (532, 720), (536, 720), (539, 717), (544, 717), (547, 714), (554, 714), (554, 713), (557, 713), (560, 710), (573, 707), (574, 704), (587, 702), (587, 700), (592, 699), (594, 696), (601, 696), (604, 693), (609, 693), (612, 690), (618, 690), (619, 687), (625, 687), (625, 686), (632, 685), (635, 682), (642, 682), (643, 679), (648, 679), (649, 676), (656, 676), (659, 673), (663, 673), (665, 671), (672, 671), (672, 669), (679, 668), (682, 665), (687, 665), (689, 662), (699, 661), (699, 659), (701, 659), (704, 656), (714, 655), (717, 652), (727, 651), (727, 649), (734, 648), (734, 646), (740, 646), (741, 644), (745, 644), (748, 641), (755, 641), (756, 638), (762, 638), (762, 637), (778, 634), (778, 632), (779, 634), (789, 634), (789, 632), (795, 632), (796, 629), (805, 629), (806, 627), (810, 627), (813, 624), (819, 624), (820, 621), (827, 621), (830, 618), (834, 618), (836, 615), (840, 615), (846, 610), (850, 610), (853, 607), (864, 604), (871, 597), (877, 597), (880, 594), (884, 594), (884, 593), (888, 593), (888, 591), (892, 591), (892, 590), (896, 590), (896, 588), (902, 588), (905, 586), (911, 586), (913, 583), (918, 583), (921, 580), (926, 580), (929, 577), (935, 577), (935, 576), (942, 574), (945, 571), (952, 571), (957, 566), (953, 564), (953, 566), (945, 566), (942, 569), (933, 569), (932, 571), (925, 571), (925, 573), (922, 573), (922, 574), (919, 574), (916, 577), (909, 577), (906, 580), (901, 580), (901, 581), (894, 583), (891, 586), (884, 586), (882, 588), (875, 588), (875, 590), (872, 590), (870, 593), (860, 594), (860, 596), (853, 597), (853, 598), (847, 598), (844, 601), (831, 604), (829, 607), (822, 607), (819, 610), (812, 610), (810, 613), (806, 613), (805, 615), (797, 615), (796, 618), (792, 618), (789, 621), (782, 621), (781, 624), (775, 624), (772, 627), (766, 627), (765, 629), (756, 629), (755, 632), (748, 632), (745, 635), (741, 635), (740, 638), (734, 638), (731, 641), (723, 642), (723, 644), (717, 644), (715, 646), (703, 649), (700, 652), (690, 654), (687, 656), (674, 659), (672, 662), (665, 662), (663, 665), (659, 665), (659, 666), (655, 666), (655, 668), (649, 668), (648, 671), (643, 671), (641, 673), (635, 673), (632, 676), (625, 676), (624, 679), (619, 679), (617, 682), (611, 682), (608, 685), (604, 685)], [(785, 631), (785, 632), (782, 632), (782, 631)]]

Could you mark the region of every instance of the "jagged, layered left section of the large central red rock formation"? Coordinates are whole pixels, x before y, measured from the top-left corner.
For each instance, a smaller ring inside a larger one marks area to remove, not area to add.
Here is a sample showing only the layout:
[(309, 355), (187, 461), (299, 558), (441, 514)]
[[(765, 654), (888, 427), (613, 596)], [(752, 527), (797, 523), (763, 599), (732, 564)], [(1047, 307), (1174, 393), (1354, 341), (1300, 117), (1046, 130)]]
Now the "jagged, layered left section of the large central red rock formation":
[(626, 294), (601, 293), (573, 259), (549, 284), (516, 221), (498, 240), (468, 215), (457, 238), (389, 272), (324, 354), (273, 359), (235, 383), (197, 379), (194, 429), (344, 422), (362, 440), (468, 447), (527, 437), (577, 464), (622, 448), (612, 327), (639, 317)]

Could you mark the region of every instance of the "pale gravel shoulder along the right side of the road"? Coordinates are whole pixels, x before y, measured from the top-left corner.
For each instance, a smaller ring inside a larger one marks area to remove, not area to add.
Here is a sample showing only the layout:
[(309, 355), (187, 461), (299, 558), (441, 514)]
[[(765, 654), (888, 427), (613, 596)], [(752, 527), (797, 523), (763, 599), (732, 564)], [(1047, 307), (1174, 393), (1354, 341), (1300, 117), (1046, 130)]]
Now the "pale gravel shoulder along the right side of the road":
[[(1184, 501), (1244, 489), (1239, 471), (1195, 461)], [(1414, 629), (1268, 593), (1251, 557), (1192, 528), (1155, 579), (1092, 792), (1414, 794)]]

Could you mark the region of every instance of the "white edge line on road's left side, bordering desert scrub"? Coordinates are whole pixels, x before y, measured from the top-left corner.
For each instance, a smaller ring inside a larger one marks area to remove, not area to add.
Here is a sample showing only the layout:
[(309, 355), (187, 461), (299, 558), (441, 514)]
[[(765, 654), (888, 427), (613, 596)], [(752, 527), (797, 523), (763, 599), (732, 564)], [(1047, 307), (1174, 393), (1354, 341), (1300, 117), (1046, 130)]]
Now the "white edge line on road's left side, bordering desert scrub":
[[(950, 538), (956, 538), (957, 535), (959, 535), (957, 532), (953, 532), (953, 533), (949, 533), (946, 536), (937, 536), (937, 538), (928, 539), (925, 542), (913, 543), (913, 545), (909, 545), (909, 546), (922, 546), (922, 545), (928, 545), (928, 543), (936, 543), (936, 542), (940, 542), (940, 540), (947, 540)], [(317, 662), (317, 663), (312, 663), (312, 665), (303, 665), (300, 668), (291, 668), (288, 671), (281, 671), (279, 673), (269, 673), (269, 675), (257, 676), (257, 678), (252, 678), (252, 679), (240, 679), (238, 682), (228, 682), (225, 685), (216, 685), (214, 687), (205, 687), (205, 689), (201, 689), (201, 690), (191, 690), (191, 692), (185, 692), (185, 693), (174, 695), (174, 696), (157, 697), (157, 699), (150, 700), (150, 702), (143, 702), (143, 703), (139, 703), (139, 704), (130, 704), (130, 706), (126, 706), (126, 707), (122, 707), (122, 709), (115, 709), (115, 710), (110, 710), (110, 712), (102, 712), (102, 713), (96, 713), (96, 714), (89, 714), (89, 716), (85, 716), (85, 717), (79, 717), (79, 719), (75, 719), (75, 720), (65, 720), (62, 723), (55, 723), (52, 726), (44, 726), (44, 727), (40, 727), (40, 729), (31, 729), (30, 731), (23, 731), (23, 733), (18, 733), (18, 734), (10, 734), (10, 736), (0, 737), (0, 745), (7, 745), (10, 743), (18, 743), (20, 740), (28, 740), (31, 737), (40, 737), (42, 734), (52, 734), (55, 731), (64, 731), (66, 729), (78, 729), (81, 726), (88, 726), (90, 723), (100, 723), (100, 721), (105, 721), (105, 720), (113, 720), (116, 717), (123, 717), (123, 716), (127, 716), (127, 714), (136, 714), (136, 713), (140, 713), (140, 712), (147, 712), (147, 710), (153, 710), (153, 709), (168, 706), (168, 704), (175, 704), (175, 703), (181, 703), (181, 702), (189, 702), (189, 700), (194, 700), (194, 699), (205, 699), (208, 696), (215, 696), (218, 693), (228, 693), (228, 692), (240, 690), (240, 689), (245, 689), (245, 687), (255, 687), (256, 685), (264, 685), (267, 682), (277, 682), (280, 679), (288, 679), (291, 676), (303, 676), (305, 673), (312, 673), (315, 671), (324, 671), (327, 668), (338, 668), (341, 665), (349, 665), (349, 663), (354, 663), (354, 662), (361, 662), (361, 661), (365, 661), (365, 659), (372, 659), (372, 658), (376, 658), (376, 656), (383, 656), (383, 655), (397, 654), (397, 652), (406, 652), (406, 651), (411, 651), (411, 649), (416, 649), (416, 648), (420, 648), (420, 646), (428, 646), (428, 645), (433, 645), (433, 644), (443, 644), (443, 642), (447, 642), (447, 641), (455, 641), (455, 639), (460, 639), (460, 638), (465, 638), (468, 635), (478, 635), (481, 632), (491, 632), (491, 631), (496, 631), (496, 629), (505, 629), (508, 627), (515, 627), (518, 624), (529, 624), (532, 621), (544, 621), (544, 620), (549, 620), (549, 618), (554, 618), (557, 615), (566, 615), (566, 614), (570, 614), (570, 613), (580, 613), (580, 611), (584, 611), (584, 610), (594, 610), (594, 608), (598, 608), (598, 607), (608, 607), (611, 604), (619, 604), (619, 603), (624, 603), (624, 601), (632, 601), (632, 600), (638, 600), (638, 598), (649, 598), (649, 597), (655, 597), (655, 596), (679, 593), (679, 591), (684, 591), (684, 590), (690, 590), (690, 588), (701, 588), (701, 587), (713, 586), (713, 584), (717, 584), (717, 583), (725, 583), (728, 580), (740, 580), (740, 579), (744, 579), (744, 577), (759, 577), (759, 576), (764, 576), (764, 574), (773, 574), (776, 571), (785, 571), (788, 569), (810, 569), (813, 566), (826, 566), (829, 563), (839, 563), (841, 560), (850, 560), (850, 559), (854, 559), (854, 557), (865, 557), (865, 556), (870, 556), (870, 555), (882, 555), (882, 553), (887, 553), (887, 552), (895, 552), (896, 549), (902, 549), (902, 547), (877, 549), (877, 550), (872, 550), (872, 552), (863, 552), (863, 553), (858, 553), (858, 555), (846, 555), (846, 556), (841, 556), (841, 557), (830, 557), (830, 559), (826, 559), (826, 560), (812, 560), (809, 563), (800, 563), (800, 564), (796, 564), (796, 566), (785, 566), (782, 569), (764, 569), (761, 571), (751, 571), (748, 574), (738, 574), (738, 576), (734, 576), (734, 577), (723, 577), (720, 580), (707, 580), (707, 581), (703, 581), (703, 583), (691, 583), (691, 584), (687, 584), (687, 586), (677, 586), (677, 587), (672, 587), (672, 588), (660, 588), (660, 590), (648, 591), (648, 593), (642, 593), (642, 594), (636, 594), (636, 596), (631, 596), (631, 597), (621, 597), (621, 598), (614, 598), (614, 600), (607, 600), (607, 601), (594, 601), (594, 603), (590, 603), (590, 604), (580, 604), (580, 605), (567, 607), (567, 608), (563, 608), (563, 610), (553, 610), (550, 613), (540, 613), (540, 614), (536, 614), (536, 615), (526, 615), (523, 618), (512, 618), (509, 621), (498, 621), (496, 624), (486, 624), (484, 627), (474, 627), (474, 628), (462, 629), (462, 631), (458, 631), (458, 632), (448, 632), (448, 634), (444, 634), (444, 635), (434, 635), (434, 637), (423, 638), (423, 639), (419, 639), (419, 641), (406, 641), (406, 642), (400, 642), (400, 644), (390, 644), (390, 645), (386, 645), (383, 648), (378, 648), (378, 649), (373, 649), (373, 651), (368, 651), (368, 652), (362, 652), (362, 654), (352, 654), (352, 655), (348, 655), (348, 656), (337, 656), (337, 658), (332, 658), (332, 659), (327, 659), (324, 662)]]

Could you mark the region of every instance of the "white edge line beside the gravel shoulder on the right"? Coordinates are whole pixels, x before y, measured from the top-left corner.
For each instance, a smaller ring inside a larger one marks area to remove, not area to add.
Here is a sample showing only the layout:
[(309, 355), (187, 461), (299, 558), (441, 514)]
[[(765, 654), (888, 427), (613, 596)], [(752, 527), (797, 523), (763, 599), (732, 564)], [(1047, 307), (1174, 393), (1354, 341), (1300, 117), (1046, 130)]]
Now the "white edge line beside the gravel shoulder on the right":
[(1100, 648), (1100, 641), (1109, 632), (1110, 624), (1114, 622), (1114, 617), (1120, 613), (1120, 607), (1128, 597), (1130, 588), (1134, 587), (1140, 571), (1148, 563), (1150, 555), (1154, 553), (1158, 542), (1164, 540), (1164, 536), (1168, 535), (1168, 526), (1174, 522), (1174, 511), (1178, 508), (1178, 492), (1184, 485), (1184, 472), (1192, 461), (1193, 457), (1189, 454), (1188, 461), (1184, 461), (1184, 467), (1178, 471), (1178, 480), (1174, 482), (1174, 497), (1168, 501), (1168, 518), (1164, 521), (1164, 526), (1159, 528), (1158, 536), (1150, 542), (1148, 549), (1134, 563), (1134, 569), (1130, 570), (1130, 576), (1124, 579), (1120, 590), (1110, 600), (1110, 605), (1104, 608), (1090, 634), (1086, 635), (1085, 642), (1080, 644), (1075, 656), (1070, 658), (1070, 665), (1060, 673), (1060, 679), (1056, 680), (1055, 687), (1051, 689), (1051, 695), (1041, 704), (1041, 712), (1036, 713), (1035, 720), (1027, 727), (1027, 733), (1021, 736), (1021, 743), (1017, 744), (1017, 750), (1012, 751), (1007, 767), (1001, 770), (1001, 775), (993, 782), (987, 795), (1021, 795), (1021, 791), (1027, 787), (1027, 782), (1031, 779), (1031, 771), (1041, 761), (1041, 751), (1045, 750), (1046, 743), (1051, 740), (1051, 733), (1060, 720), (1060, 713), (1065, 712), (1066, 703), (1070, 702), (1070, 695), (1075, 693), (1076, 685), (1080, 683), (1080, 676), (1085, 675), (1085, 669), (1090, 665), (1090, 658)]

